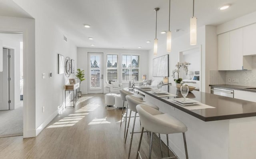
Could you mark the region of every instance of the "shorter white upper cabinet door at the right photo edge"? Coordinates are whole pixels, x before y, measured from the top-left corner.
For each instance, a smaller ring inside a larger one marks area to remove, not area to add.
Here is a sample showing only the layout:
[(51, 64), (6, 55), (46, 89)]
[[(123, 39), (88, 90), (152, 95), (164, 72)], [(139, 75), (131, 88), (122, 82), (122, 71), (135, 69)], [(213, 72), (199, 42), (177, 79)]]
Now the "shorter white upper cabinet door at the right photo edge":
[(256, 24), (243, 28), (243, 54), (256, 55)]

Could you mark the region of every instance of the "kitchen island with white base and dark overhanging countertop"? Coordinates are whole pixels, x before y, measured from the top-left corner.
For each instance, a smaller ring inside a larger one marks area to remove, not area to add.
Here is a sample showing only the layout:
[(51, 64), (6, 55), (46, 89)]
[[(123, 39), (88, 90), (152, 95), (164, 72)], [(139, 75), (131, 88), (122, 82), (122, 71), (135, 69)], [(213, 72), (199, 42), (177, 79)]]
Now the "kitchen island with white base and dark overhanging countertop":
[[(146, 101), (156, 104), (160, 111), (187, 125), (190, 159), (256, 158), (256, 103), (192, 91), (188, 93), (188, 98), (215, 108), (188, 110), (168, 100), (174, 97), (158, 97), (152, 91), (137, 89), (145, 94)], [(182, 97), (176, 87), (163, 86), (162, 89)], [(178, 157), (185, 159), (182, 134), (170, 134), (169, 140)]]

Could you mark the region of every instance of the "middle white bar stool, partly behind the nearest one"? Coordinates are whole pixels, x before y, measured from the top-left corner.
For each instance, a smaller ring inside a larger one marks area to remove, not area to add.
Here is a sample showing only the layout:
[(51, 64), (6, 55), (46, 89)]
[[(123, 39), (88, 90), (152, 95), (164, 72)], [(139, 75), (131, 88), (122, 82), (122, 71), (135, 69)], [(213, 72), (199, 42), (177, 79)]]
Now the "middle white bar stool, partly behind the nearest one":
[[(135, 112), (134, 115), (134, 121), (133, 121), (133, 127), (132, 127), (132, 136), (131, 136), (131, 140), (130, 140), (130, 148), (129, 148), (129, 155), (128, 155), (128, 159), (130, 159), (130, 153), (131, 153), (131, 147), (132, 147), (132, 138), (133, 138), (133, 134), (134, 133), (140, 133), (140, 132), (134, 132), (134, 125), (135, 125), (135, 121), (136, 121), (136, 114), (137, 114), (137, 109), (136, 109), (136, 105), (138, 104), (144, 104), (144, 105), (148, 105), (156, 110), (159, 110), (159, 107), (152, 104), (152, 103), (148, 103), (148, 102), (144, 102), (141, 99), (132, 97), (131, 95), (126, 95), (126, 100), (128, 103), (128, 107), (130, 109), (130, 116), (129, 116), (129, 120), (128, 120), (128, 125), (127, 125), (127, 130), (126, 130), (126, 136), (125, 136), (125, 141), (124, 143), (126, 143), (126, 139), (127, 139), (127, 134), (128, 134), (128, 130), (129, 130), (129, 124), (130, 124), (130, 118), (131, 118), (131, 113), (132, 111)], [(160, 135), (160, 134), (159, 134)], [(160, 139), (160, 143), (161, 143), (161, 139)], [(161, 146), (162, 147), (162, 146)]]

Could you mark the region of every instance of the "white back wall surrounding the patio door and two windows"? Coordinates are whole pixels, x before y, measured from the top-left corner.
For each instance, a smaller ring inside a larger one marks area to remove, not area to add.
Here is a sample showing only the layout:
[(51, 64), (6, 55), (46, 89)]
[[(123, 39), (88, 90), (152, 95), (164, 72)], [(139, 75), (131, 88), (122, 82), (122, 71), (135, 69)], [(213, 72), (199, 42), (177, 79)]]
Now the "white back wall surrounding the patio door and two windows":
[[(121, 64), (121, 55), (122, 54), (139, 54), (140, 55), (140, 64), (141, 64), (141, 72), (140, 72), (140, 79), (142, 78), (142, 75), (146, 74), (148, 75), (148, 51), (143, 50), (125, 50), (125, 49), (102, 49), (102, 48), (78, 48), (77, 50), (77, 68), (80, 68), (82, 70), (85, 70), (85, 78), (86, 80), (81, 83), (80, 90), (83, 94), (88, 93), (88, 52), (103, 52), (103, 59), (106, 59), (107, 54), (118, 54), (119, 55), (119, 62)], [(103, 66), (106, 66), (106, 60), (103, 60), (104, 64)], [(119, 64), (119, 82), (121, 82), (121, 65)], [(103, 68), (104, 70), (104, 79), (103, 81), (106, 81), (106, 68)], [(141, 79), (142, 80), (142, 79)], [(103, 83), (104, 83), (103, 82)], [(124, 87), (127, 87), (128, 83), (124, 83)], [(105, 93), (105, 92), (104, 92)]]

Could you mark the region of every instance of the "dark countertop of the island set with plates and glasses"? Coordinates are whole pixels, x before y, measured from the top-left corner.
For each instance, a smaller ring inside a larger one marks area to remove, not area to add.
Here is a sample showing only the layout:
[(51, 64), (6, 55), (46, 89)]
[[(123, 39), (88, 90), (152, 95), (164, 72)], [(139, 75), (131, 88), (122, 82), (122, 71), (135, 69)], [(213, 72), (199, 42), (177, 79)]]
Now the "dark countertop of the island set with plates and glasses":
[[(165, 100), (172, 99), (174, 97), (157, 97), (156, 95), (152, 94), (151, 91), (145, 91), (140, 88), (136, 89), (203, 121), (216, 121), (256, 116), (256, 103), (252, 101), (245, 101), (241, 99), (224, 97), (194, 90), (188, 93), (187, 98), (194, 99), (215, 108), (188, 110), (184, 107), (179, 106), (178, 104)], [(178, 91), (174, 86), (164, 85), (162, 87), (162, 90), (168, 91), (172, 94), (176, 94), (178, 95), (178, 98), (182, 97), (180, 91)]]

